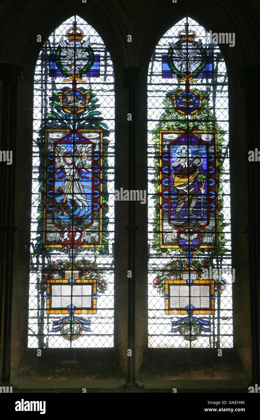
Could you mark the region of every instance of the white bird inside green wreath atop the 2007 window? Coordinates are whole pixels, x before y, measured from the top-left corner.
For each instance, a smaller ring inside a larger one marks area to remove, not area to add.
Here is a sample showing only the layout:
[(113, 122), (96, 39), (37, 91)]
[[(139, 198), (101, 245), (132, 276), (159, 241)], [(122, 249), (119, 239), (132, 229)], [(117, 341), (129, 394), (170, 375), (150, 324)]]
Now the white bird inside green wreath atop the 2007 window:
[[(201, 62), (201, 53), (200, 49), (202, 48), (201, 39), (198, 40), (196, 46), (188, 45), (188, 51), (186, 44), (182, 48), (182, 45), (178, 46), (175, 42), (169, 42), (170, 46), (173, 48), (176, 57), (178, 60), (177, 67), (183, 73), (189, 72), (192, 73), (196, 69), (197, 64)], [(187, 54), (188, 53), (188, 54)], [(188, 57), (187, 57), (188, 55)]]

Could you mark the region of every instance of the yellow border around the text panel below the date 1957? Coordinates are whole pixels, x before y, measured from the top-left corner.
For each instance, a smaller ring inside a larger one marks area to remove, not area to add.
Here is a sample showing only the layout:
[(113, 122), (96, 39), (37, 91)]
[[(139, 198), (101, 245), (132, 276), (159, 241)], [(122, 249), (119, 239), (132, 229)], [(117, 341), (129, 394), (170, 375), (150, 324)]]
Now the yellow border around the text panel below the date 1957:
[[(50, 295), (50, 291), (51, 291), (51, 283), (57, 284), (57, 283), (62, 283), (62, 284), (69, 284), (67, 279), (65, 278), (51, 278), (47, 280), (47, 293)], [(76, 280), (76, 284), (77, 283), (93, 283), (93, 294), (97, 293), (97, 280), (95, 278), (84, 278), (84, 279), (77, 279)], [(73, 287), (73, 286), (72, 286)], [(96, 314), (97, 313), (97, 299), (94, 299), (93, 297), (91, 297), (92, 299), (92, 304), (93, 304), (93, 309), (76, 309), (75, 310), (75, 314)], [(68, 310), (67, 309), (51, 309), (50, 308), (50, 303), (51, 303), (51, 297), (49, 299), (46, 299), (46, 313), (47, 314), (68, 314)]]

